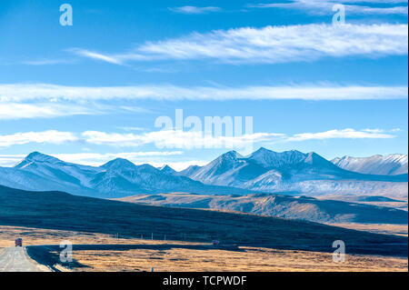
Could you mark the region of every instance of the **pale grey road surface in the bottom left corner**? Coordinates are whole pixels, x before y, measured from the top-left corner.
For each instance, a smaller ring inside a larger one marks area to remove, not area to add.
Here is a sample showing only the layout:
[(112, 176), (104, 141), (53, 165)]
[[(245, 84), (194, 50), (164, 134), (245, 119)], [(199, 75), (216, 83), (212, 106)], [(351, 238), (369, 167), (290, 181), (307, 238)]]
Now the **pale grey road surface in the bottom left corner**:
[(25, 247), (11, 246), (0, 250), (0, 272), (44, 272), (46, 268), (35, 263), (25, 253)]

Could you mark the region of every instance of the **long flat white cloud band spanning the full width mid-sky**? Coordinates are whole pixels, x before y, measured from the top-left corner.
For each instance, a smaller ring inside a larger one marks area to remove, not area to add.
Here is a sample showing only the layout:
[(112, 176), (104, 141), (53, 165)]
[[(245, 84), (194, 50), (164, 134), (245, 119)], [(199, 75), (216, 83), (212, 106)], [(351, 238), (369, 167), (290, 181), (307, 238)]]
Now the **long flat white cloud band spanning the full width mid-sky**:
[[(67, 86), (0, 84), (0, 120), (104, 115), (110, 112), (152, 113), (128, 100), (393, 100), (407, 99), (407, 86), (281, 85), (281, 86)], [(109, 103), (106, 101), (114, 101)]]

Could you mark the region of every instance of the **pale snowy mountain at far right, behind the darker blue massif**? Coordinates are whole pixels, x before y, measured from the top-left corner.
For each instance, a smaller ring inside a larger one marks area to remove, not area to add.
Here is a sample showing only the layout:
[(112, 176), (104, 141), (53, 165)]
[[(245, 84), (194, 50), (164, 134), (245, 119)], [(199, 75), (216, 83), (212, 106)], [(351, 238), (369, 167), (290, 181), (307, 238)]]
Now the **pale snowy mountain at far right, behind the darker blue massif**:
[(408, 173), (407, 155), (374, 155), (371, 157), (334, 158), (331, 160), (345, 170), (368, 175), (404, 175)]

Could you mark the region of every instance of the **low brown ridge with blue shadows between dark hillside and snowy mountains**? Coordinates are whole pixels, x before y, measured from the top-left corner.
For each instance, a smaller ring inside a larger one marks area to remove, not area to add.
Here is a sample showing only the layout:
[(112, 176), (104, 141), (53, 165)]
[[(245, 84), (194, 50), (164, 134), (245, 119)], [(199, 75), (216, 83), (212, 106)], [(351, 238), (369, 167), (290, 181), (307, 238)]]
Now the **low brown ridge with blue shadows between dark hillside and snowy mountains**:
[[(394, 201), (382, 196), (364, 201)], [(119, 200), (141, 204), (185, 208), (203, 208), (244, 212), (317, 223), (364, 223), (407, 225), (408, 213), (390, 207), (360, 205), (335, 200), (288, 195), (189, 195), (182, 193), (134, 195)]]

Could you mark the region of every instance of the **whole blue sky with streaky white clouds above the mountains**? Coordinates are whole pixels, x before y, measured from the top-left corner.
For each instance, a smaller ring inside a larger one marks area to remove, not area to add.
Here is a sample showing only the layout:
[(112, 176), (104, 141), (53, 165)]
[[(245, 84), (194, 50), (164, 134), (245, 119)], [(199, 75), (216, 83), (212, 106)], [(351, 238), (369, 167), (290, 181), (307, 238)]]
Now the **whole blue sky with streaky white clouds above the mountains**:
[(405, 0), (1, 1), (0, 165), (40, 151), (182, 169), (232, 149), (155, 127), (175, 109), (252, 116), (229, 139), (243, 154), (407, 154), (407, 38)]

